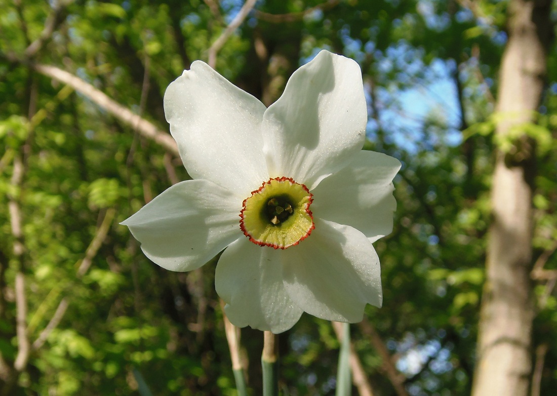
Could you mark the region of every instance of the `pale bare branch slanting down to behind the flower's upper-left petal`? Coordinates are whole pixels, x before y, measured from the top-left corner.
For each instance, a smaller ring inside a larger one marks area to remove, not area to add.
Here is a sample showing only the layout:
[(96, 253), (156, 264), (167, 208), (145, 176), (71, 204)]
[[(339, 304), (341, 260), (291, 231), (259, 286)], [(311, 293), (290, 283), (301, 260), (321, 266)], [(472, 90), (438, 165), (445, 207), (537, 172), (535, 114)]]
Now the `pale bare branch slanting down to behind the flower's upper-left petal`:
[(131, 128), (136, 128), (142, 136), (145, 136), (145, 138), (155, 141), (155, 143), (159, 144), (170, 153), (179, 155), (178, 145), (172, 136), (158, 129), (157, 126), (150, 123), (148, 120), (134, 114), (131, 110), (120, 105), (113, 99), (110, 99), (108, 95), (104, 94), (104, 92), (101, 92), (100, 90), (97, 90), (91, 84), (65, 70), (59, 69), (56, 66), (31, 65), (31, 67), (42, 75), (71, 86), (96, 105), (112, 114), (116, 119), (126, 125), (129, 125)]

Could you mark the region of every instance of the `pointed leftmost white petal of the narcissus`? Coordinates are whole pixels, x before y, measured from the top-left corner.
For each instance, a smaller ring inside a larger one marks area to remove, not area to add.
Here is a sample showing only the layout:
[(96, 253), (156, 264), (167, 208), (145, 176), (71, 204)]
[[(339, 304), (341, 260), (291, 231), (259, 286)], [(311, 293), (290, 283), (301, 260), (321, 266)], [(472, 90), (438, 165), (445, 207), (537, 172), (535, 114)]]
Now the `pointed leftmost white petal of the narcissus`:
[(173, 185), (121, 224), (145, 256), (170, 271), (191, 271), (243, 237), (241, 199), (207, 180)]

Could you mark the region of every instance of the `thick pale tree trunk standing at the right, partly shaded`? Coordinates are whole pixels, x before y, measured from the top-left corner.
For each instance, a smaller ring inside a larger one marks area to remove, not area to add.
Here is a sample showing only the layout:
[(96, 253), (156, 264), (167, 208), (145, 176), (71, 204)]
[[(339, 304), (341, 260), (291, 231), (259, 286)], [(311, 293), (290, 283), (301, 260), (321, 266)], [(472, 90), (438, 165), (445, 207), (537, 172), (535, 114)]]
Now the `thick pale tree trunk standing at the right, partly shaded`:
[[(550, 0), (509, 4), (496, 138), (510, 139), (521, 125), (534, 122), (546, 74), (550, 7)], [(513, 150), (496, 153), (473, 396), (526, 396), (530, 383), (535, 142), (521, 133), (513, 143)]]

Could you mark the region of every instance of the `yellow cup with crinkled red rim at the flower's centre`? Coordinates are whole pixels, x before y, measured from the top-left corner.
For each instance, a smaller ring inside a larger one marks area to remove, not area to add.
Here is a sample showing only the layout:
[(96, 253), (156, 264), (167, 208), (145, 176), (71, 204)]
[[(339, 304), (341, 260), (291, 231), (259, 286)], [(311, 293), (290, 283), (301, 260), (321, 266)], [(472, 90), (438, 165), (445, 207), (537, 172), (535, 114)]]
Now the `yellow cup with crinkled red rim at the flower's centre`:
[(304, 184), (284, 176), (269, 179), (244, 199), (240, 228), (259, 246), (296, 246), (315, 228), (312, 202), (313, 195)]

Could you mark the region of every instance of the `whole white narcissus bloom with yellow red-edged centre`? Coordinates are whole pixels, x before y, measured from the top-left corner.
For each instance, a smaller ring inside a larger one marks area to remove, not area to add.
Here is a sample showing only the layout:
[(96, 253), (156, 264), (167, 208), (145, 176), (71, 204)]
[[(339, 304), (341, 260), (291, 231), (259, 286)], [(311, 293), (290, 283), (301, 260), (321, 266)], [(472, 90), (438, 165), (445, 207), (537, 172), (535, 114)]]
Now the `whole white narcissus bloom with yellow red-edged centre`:
[(240, 327), (281, 333), (302, 312), (358, 322), (382, 304), (372, 242), (392, 231), (400, 163), (361, 150), (356, 62), (321, 51), (266, 108), (196, 61), (164, 110), (193, 180), (123, 222), (147, 257), (191, 271), (224, 250), (215, 286)]

